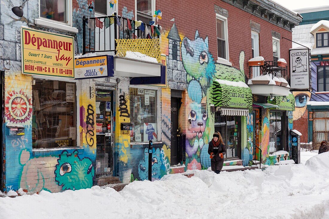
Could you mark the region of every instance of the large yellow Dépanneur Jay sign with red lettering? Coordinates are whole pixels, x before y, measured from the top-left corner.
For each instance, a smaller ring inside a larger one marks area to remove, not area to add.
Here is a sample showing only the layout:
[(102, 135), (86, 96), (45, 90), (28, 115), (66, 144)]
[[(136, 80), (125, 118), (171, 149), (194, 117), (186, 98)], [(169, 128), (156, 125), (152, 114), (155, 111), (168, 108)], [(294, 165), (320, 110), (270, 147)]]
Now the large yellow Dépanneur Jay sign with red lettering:
[(74, 78), (74, 37), (22, 27), (23, 74)]

